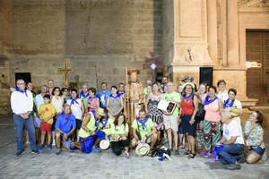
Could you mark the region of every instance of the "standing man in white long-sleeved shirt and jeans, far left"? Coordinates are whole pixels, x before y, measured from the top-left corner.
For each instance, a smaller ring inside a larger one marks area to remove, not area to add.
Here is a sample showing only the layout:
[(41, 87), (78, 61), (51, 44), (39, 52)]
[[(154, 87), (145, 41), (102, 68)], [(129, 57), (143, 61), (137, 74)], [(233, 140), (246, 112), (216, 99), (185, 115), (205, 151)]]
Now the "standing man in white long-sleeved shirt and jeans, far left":
[(16, 156), (22, 155), (23, 151), (23, 126), (25, 125), (30, 138), (30, 149), (34, 154), (39, 154), (36, 145), (36, 134), (33, 124), (33, 98), (30, 90), (25, 89), (25, 82), (20, 79), (16, 81), (17, 88), (11, 95), (11, 107), (13, 110), (13, 122), (16, 132), (17, 151)]

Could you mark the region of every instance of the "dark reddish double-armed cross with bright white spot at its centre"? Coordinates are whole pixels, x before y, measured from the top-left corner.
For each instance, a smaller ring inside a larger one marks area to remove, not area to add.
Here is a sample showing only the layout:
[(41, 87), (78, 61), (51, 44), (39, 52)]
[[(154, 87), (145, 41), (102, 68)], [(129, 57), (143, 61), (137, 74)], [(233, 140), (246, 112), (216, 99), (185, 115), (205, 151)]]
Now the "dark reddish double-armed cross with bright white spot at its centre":
[[(155, 57), (154, 52), (150, 52), (151, 57), (144, 57), (145, 63), (143, 64), (143, 69), (151, 68), (152, 69), (152, 82), (156, 81), (156, 68), (164, 68), (163, 64), (157, 64), (161, 58), (160, 57)], [(149, 64), (150, 63), (150, 64)]]

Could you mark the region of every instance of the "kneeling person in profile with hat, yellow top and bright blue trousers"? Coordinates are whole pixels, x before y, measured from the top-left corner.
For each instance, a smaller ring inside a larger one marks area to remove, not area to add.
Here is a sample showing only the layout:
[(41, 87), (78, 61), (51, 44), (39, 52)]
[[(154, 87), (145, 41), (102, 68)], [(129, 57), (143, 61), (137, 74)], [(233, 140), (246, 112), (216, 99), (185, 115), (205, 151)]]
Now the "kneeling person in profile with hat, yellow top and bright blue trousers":
[(85, 115), (82, 121), (82, 128), (79, 132), (82, 146), (76, 143), (76, 147), (84, 153), (91, 153), (91, 149), (95, 152), (100, 152), (97, 145), (101, 140), (105, 139), (105, 132), (97, 130), (101, 117), (106, 117), (107, 114), (103, 108), (97, 108), (96, 111), (89, 112)]

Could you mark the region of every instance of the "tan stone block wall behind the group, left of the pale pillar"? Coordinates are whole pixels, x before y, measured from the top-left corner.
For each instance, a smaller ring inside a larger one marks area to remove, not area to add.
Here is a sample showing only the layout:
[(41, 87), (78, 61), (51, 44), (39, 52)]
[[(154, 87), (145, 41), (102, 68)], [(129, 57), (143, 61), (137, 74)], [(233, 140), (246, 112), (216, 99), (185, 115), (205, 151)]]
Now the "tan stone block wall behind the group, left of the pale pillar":
[(64, 86), (57, 68), (68, 58), (77, 86), (125, 82), (126, 67), (140, 69), (142, 81), (151, 78), (142, 66), (149, 52), (161, 53), (161, 0), (13, 2), (12, 74), (31, 72), (38, 87), (48, 79)]

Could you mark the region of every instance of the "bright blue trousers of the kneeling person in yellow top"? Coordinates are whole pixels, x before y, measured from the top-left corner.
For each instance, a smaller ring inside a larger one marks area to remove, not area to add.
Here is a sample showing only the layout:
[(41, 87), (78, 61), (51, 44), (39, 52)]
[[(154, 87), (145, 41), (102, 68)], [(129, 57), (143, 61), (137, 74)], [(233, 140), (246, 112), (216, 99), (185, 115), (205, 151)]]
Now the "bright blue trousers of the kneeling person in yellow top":
[(106, 133), (102, 131), (97, 131), (94, 135), (88, 137), (88, 138), (82, 138), (80, 137), (80, 141), (82, 141), (82, 152), (84, 153), (91, 153), (92, 145), (93, 142), (98, 139), (98, 140), (104, 140), (106, 138)]

